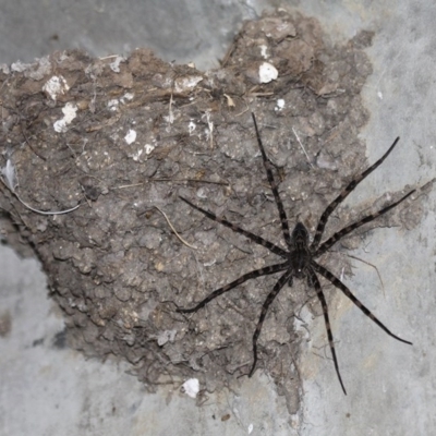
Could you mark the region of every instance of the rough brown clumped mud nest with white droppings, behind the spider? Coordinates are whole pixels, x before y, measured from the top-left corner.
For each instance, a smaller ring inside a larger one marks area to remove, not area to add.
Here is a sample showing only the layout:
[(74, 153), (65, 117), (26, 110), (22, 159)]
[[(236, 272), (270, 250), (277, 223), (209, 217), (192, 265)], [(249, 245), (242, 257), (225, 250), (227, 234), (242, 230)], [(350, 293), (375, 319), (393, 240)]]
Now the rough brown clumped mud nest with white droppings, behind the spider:
[[(290, 226), (301, 220), (313, 231), (329, 201), (367, 165), (358, 133), (368, 117), (360, 92), (371, 73), (362, 51), (370, 44), (363, 33), (330, 46), (315, 20), (281, 11), (246, 23), (221, 69), (206, 73), (144, 49), (129, 59), (57, 52), (3, 68), (7, 238), (17, 249), (31, 244), (41, 259), (73, 347), (128, 360), (150, 389), (196, 377), (211, 391), (249, 372), (275, 276), (190, 316), (175, 308), (277, 256), (179, 195), (283, 246), (254, 111)], [(367, 213), (374, 199), (360, 210), (340, 207), (327, 233)], [(421, 208), (409, 203), (371, 227), (414, 226)], [(343, 243), (356, 246), (367, 230)], [(351, 272), (344, 256), (329, 253), (322, 263)], [(306, 302), (320, 314), (312, 296), (299, 280), (284, 288), (259, 338), (257, 367), (271, 375), (291, 413), (301, 386), (294, 317)]]

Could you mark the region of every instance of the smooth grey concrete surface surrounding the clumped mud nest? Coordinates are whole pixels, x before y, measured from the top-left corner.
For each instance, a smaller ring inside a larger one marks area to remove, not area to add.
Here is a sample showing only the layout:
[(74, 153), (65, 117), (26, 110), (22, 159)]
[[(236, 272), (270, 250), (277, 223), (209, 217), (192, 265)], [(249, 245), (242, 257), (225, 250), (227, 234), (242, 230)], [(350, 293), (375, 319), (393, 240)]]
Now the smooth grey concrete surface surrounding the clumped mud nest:
[[(93, 55), (148, 46), (164, 59), (217, 65), (243, 17), (266, 2), (196, 0), (147, 2), (0, 1), (0, 63), (32, 61), (53, 49), (81, 47)], [(274, 4), (277, 4), (276, 2)], [(347, 199), (350, 205), (434, 177), (436, 161), (436, 7), (388, 0), (288, 2), (316, 16), (331, 38), (375, 32), (367, 50), (374, 73), (365, 98), (371, 121), (362, 132), (374, 161), (397, 136), (401, 143), (380, 170)], [(258, 371), (234, 390), (202, 405), (179, 390), (148, 393), (126, 367), (86, 361), (62, 347), (62, 317), (47, 299), (35, 261), (0, 251), (0, 316), (11, 319), (0, 337), (0, 435), (433, 435), (436, 432), (435, 198), (410, 231), (377, 229), (352, 255), (347, 284), (399, 336), (389, 338), (344, 298), (331, 305), (342, 377), (340, 390), (326, 350), (322, 317), (303, 315), (307, 344), (300, 362), (301, 415), (289, 416), (274, 385)], [(338, 292), (337, 292), (338, 293)], [(307, 312), (308, 314), (308, 312)], [(32, 361), (32, 365), (24, 364)], [(229, 420), (221, 420), (230, 414)], [(251, 426), (252, 425), (252, 426)]]

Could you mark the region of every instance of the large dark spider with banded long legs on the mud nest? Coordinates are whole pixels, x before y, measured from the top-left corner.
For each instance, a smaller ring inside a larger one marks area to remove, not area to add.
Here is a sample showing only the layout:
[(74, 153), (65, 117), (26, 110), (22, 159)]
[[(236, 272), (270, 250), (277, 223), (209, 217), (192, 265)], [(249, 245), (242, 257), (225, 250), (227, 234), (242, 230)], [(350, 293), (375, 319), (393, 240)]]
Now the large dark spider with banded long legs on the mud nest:
[(219, 295), (222, 295), (226, 292), (229, 292), (233, 288), (237, 288), (239, 284), (244, 283), (247, 280), (255, 279), (255, 278), (262, 277), (262, 276), (268, 276), (268, 275), (272, 275), (272, 274), (277, 274), (277, 272), (282, 272), (280, 278), (277, 280), (276, 284), (274, 286), (272, 290), (268, 293), (268, 295), (262, 306), (261, 317), (257, 322), (256, 329), (254, 330), (254, 334), (253, 334), (253, 364), (252, 364), (250, 373), (249, 373), (249, 377), (251, 377), (256, 368), (257, 340), (261, 335), (262, 326), (263, 326), (265, 317), (268, 313), (269, 306), (271, 305), (275, 298), (278, 295), (278, 293), (280, 292), (280, 290), (283, 288), (283, 286), (286, 283), (288, 283), (291, 287), (293, 278), (298, 278), (298, 279), (305, 278), (307, 280), (308, 287), (315, 288), (316, 295), (323, 307), (324, 322), (326, 325), (327, 338), (328, 338), (328, 343), (330, 347), (330, 352), (331, 352), (331, 356), (332, 356), (334, 364), (335, 364), (336, 374), (337, 374), (339, 383), (342, 387), (343, 393), (347, 395), (347, 390), (342, 383), (342, 377), (341, 377), (341, 374), (339, 371), (338, 359), (336, 356), (335, 342), (334, 342), (334, 336), (332, 336), (331, 327), (330, 327), (327, 302), (326, 302), (326, 298), (324, 295), (324, 292), (323, 292), (323, 289), (319, 283), (319, 279), (318, 279), (317, 275), (323, 276), (330, 283), (332, 283), (336, 288), (341, 290), (346, 296), (348, 296), (367, 317), (370, 317), (378, 327), (380, 327), (383, 330), (385, 330), (389, 336), (391, 336), (392, 338), (395, 338), (401, 342), (408, 343), (408, 344), (412, 344), (412, 342), (409, 342), (409, 341), (401, 339), (398, 336), (393, 335), (378, 318), (375, 317), (375, 315), (373, 315), (371, 313), (371, 311), (366, 306), (364, 306), (361, 303), (361, 301), (356, 296), (354, 296), (351, 293), (350, 289), (346, 284), (343, 284), (341, 280), (339, 280), (334, 274), (331, 274), (324, 266), (318, 264), (316, 262), (316, 258), (319, 257), (320, 255), (323, 255), (324, 253), (326, 253), (343, 237), (351, 233), (353, 230), (358, 229), (359, 227), (373, 221), (374, 219), (376, 219), (380, 215), (386, 214), (390, 209), (393, 209), (396, 206), (398, 206), (400, 203), (402, 203), (405, 198), (408, 198), (410, 195), (412, 195), (415, 192), (415, 190), (412, 190), (411, 192), (409, 192), (407, 195), (404, 195), (399, 201), (391, 203), (390, 205), (384, 207), (383, 209), (380, 209), (374, 214), (367, 215), (366, 217), (346, 226), (344, 228), (342, 228), (341, 230), (336, 232), (334, 235), (328, 238), (326, 241), (320, 243), (323, 233), (324, 233), (324, 229), (325, 229), (328, 218), (330, 217), (332, 211), (340, 205), (340, 203), (342, 203), (343, 199), (346, 199), (348, 197), (348, 195), (354, 190), (355, 186), (358, 186), (359, 183), (361, 183), (367, 175), (370, 175), (377, 167), (379, 167), (383, 164), (383, 161), (389, 156), (389, 154), (392, 152), (392, 149), (395, 148), (395, 146), (397, 145), (397, 143), (400, 138), (397, 137), (393, 141), (393, 144), (389, 147), (389, 149), (374, 165), (372, 165), (370, 168), (367, 168), (365, 171), (363, 171), (360, 175), (354, 178), (347, 185), (347, 187), (327, 206), (327, 208), (324, 210), (323, 215), (319, 218), (319, 221), (318, 221), (318, 225), (317, 225), (317, 228), (315, 231), (315, 235), (311, 243), (308, 231), (302, 222), (296, 222), (292, 232), (290, 232), (290, 230), (289, 230), (287, 214), (284, 211), (283, 204), (280, 199), (278, 185), (277, 185), (274, 174), (272, 174), (272, 164), (269, 161), (269, 159), (266, 156), (254, 113), (252, 113), (252, 118), (253, 118), (253, 123), (254, 123), (254, 128), (256, 131), (257, 144), (261, 149), (262, 159), (264, 161), (264, 167), (266, 170), (267, 179), (268, 179), (269, 185), (271, 187), (274, 198), (275, 198), (278, 211), (279, 211), (281, 230), (283, 232), (283, 238), (284, 238), (287, 249), (283, 250), (283, 249), (279, 247), (278, 245), (265, 240), (264, 238), (261, 238), (247, 230), (244, 230), (241, 227), (233, 225), (232, 222), (229, 222), (225, 218), (217, 217), (215, 214), (213, 214), (208, 210), (205, 210), (199, 206), (194, 205), (193, 203), (191, 203), (189, 199), (186, 199), (184, 197), (180, 197), (180, 198), (183, 202), (185, 202), (187, 205), (193, 207), (194, 209), (204, 214), (209, 219), (230, 228), (231, 230), (233, 230), (237, 233), (243, 234), (244, 237), (249, 238), (256, 244), (259, 244), (259, 245), (268, 249), (274, 254), (277, 254), (283, 261), (278, 264), (269, 265), (264, 268), (255, 269), (251, 272), (244, 274), (243, 276), (241, 276), (240, 278), (233, 280), (232, 282), (226, 284), (225, 287), (219, 288), (219, 289), (215, 290), (214, 292), (211, 292), (204, 300), (202, 300), (199, 303), (197, 303), (194, 307), (191, 307), (191, 308), (179, 307), (179, 308), (177, 308), (177, 311), (180, 313), (197, 312), (199, 308), (204, 307), (210, 301), (215, 300), (216, 298), (218, 298)]

